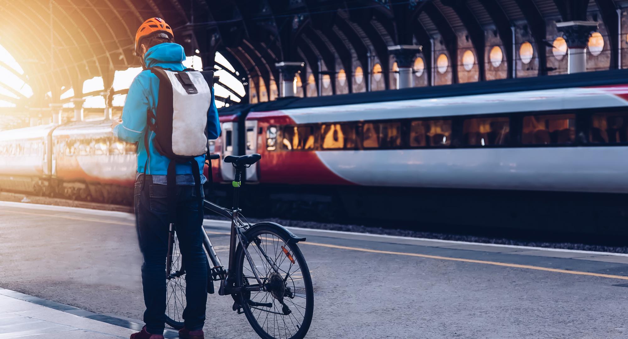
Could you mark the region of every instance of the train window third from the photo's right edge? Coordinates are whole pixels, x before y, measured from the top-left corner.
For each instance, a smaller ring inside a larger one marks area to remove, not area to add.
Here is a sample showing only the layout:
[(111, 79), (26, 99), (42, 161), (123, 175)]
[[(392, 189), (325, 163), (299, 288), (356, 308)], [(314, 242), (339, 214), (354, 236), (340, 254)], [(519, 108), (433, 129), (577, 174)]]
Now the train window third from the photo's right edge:
[(465, 119), (462, 124), (462, 143), (467, 146), (505, 145), (509, 141), (507, 117)]

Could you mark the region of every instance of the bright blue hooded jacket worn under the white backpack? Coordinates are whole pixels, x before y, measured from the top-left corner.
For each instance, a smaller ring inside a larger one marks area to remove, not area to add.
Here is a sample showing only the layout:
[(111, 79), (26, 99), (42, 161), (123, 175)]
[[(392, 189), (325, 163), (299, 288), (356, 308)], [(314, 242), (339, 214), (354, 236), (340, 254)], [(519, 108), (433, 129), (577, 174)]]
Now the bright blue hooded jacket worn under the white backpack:
[[(183, 47), (176, 43), (161, 43), (149, 48), (144, 55), (146, 67), (160, 66), (171, 70), (184, 70), (181, 62), (185, 60)], [(150, 159), (146, 168), (146, 174), (166, 175), (170, 159), (159, 154), (154, 147), (154, 131), (148, 131), (146, 125), (146, 110), (151, 109), (156, 112), (159, 93), (159, 79), (149, 70), (144, 70), (138, 74), (129, 87), (129, 93), (122, 109), (122, 124), (113, 130), (114, 136), (129, 143), (138, 143), (138, 172), (144, 172), (147, 154), (144, 147), (144, 133), (148, 132), (148, 151)], [(214, 101), (214, 89), (212, 89), (212, 103), (207, 111), (207, 136), (209, 139), (216, 139), (220, 135), (220, 124), (218, 121), (218, 110)], [(198, 156), (200, 172), (203, 173), (205, 156)], [(176, 164), (176, 174), (192, 174), (190, 164)]]

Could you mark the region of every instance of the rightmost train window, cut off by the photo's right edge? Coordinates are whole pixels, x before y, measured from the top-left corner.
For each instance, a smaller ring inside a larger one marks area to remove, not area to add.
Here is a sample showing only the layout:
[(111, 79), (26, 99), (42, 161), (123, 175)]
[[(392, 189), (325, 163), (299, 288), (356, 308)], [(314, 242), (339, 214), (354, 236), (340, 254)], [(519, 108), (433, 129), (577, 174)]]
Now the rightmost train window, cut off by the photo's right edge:
[(591, 143), (628, 142), (628, 114), (595, 113), (591, 116), (589, 141)]

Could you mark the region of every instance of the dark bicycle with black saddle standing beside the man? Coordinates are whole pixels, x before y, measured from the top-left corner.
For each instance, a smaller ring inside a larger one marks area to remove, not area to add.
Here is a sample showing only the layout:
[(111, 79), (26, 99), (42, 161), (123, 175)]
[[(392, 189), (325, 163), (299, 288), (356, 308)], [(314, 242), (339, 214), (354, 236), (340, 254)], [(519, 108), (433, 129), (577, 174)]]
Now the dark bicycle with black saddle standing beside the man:
[[(210, 159), (219, 159), (219, 156), (212, 154)], [(278, 223), (251, 225), (239, 208), (242, 173), (259, 159), (259, 154), (225, 156), (224, 162), (231, 163), (236, 170), (232, 181), (232, 209), (204, 200), (205, 208), (231, 220), (227, 269), (203, 229), (203, 246), (208, 257), (208, 293), (215, 292), (214, 281), (219, 281), (218, 294), (232, 296), (232, 309), (237, 314), (244, 313), (261, 338), (301, 339), (310, 328), (314, 309), (310, 271), (297, 245), (305, 238), (297, 237)], [(180, 330), (185, 308), (185, 262), (178, 250), (175, 232), (176, 225), (170, 224), (165, 316), (168, 325)]]

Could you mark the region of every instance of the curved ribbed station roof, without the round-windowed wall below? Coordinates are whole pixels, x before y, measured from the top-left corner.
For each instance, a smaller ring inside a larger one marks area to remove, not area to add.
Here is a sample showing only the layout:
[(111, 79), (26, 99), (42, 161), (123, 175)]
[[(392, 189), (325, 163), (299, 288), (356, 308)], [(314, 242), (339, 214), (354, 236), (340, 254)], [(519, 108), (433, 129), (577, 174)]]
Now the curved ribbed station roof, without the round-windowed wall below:
[[(257, 94), (262, 85), (271, 92), (279, 81), (279, 62), (304, 62), (306, 72), (299, 80), (305, 88), (313, 74), (318, 94), (322, 75), (329, 75), (330, 94), (335, 94), (342, 92), (340, 69), (343, 77), (354, 79), (358, 65), (369, 73), (373, 63), (384, 70), (382, 89), (393, 88), (395, 59), (388, 47), (395, 45), (422, 46), (426, 73), (434, 68), (436, 55), (445, 53), (453, 60), (449, 82), (466, 81), (458, 76), (465, 49), (481, 60), (474, 63), (477, 75), (472, 80), (498, 77), (497, 71), (499, 77), (517, 76), (518, 71), (512, 72), (517, 67), (525, 76), (545, 75), (556, 68), (547, 59), (560, 21), (600, 23), (608, 51), (600, 68), (618, 68), (626, 44), (620, 36), (624, 6), (628, 1), (1, 0), (0, 44), (20, 60), (20, 76), (28, 77), (35, 92), (30, 100), (35, 101), (44, 100), (48, 91), (58, 97), (62, 87), (95, 76), (111, 83), (115, 70), (138, 66), (134, 35), (153, 16), (164, 18), (176, 41), (188, 55), (198, 53), (203, 65), (214, 65), (220, 51), (234, 66), (232, 73)], [(524, 40), (532, 43), (537, 60), (525, 70), (516, 62)], [(501, 46), (504, 69), (494, 70), (485, 62), (491, 45)], [(438, 81), (428, 77), (425, 83)], [(345, 92), (355, 91), (357, 83), (349, 81)]]

